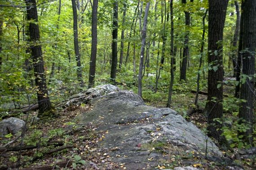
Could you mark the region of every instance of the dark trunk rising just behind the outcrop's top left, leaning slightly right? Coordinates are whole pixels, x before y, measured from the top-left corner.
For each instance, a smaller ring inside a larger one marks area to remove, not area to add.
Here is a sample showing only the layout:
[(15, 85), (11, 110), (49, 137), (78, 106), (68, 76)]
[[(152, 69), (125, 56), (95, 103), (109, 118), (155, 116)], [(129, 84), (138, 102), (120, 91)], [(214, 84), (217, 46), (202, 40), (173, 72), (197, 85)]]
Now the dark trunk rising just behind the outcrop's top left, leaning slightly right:
[(90, 59), (88, 88), (91, 88), (91, 87), (94, 86), (94, 77), (95, 77), (95, 69), (96, 69), (96, 56), (97, 56), (97, 9), (98, 9), (98, 0), (93, 0), (92, 46), (91, 46), (91, 59)]

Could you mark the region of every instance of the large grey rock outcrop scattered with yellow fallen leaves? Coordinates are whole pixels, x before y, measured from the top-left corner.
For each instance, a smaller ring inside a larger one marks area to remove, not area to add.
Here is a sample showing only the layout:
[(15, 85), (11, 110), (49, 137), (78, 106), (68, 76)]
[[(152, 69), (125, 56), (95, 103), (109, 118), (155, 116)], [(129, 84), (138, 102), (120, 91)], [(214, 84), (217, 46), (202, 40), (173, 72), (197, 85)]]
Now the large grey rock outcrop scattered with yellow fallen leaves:
[[(113, 161), (128, 169), (154, 167), (165, 159), (160, 144), (170, 144), (183, 153), (207, 152), (218, 157), (218, 147), (194, 124), (169, 108), (147, 106), (131, 91), (114, 91), (90, 102), (93, 109), (79, 117), (81, 124), (93, 123), (106, 131), (99, 145), (110, 150)], [(207, 140), (206, 140), (207, 139)], [(149, 146), (158, 146), (154, 150)], [(173, 153), (175, 154), (175, 153)]]

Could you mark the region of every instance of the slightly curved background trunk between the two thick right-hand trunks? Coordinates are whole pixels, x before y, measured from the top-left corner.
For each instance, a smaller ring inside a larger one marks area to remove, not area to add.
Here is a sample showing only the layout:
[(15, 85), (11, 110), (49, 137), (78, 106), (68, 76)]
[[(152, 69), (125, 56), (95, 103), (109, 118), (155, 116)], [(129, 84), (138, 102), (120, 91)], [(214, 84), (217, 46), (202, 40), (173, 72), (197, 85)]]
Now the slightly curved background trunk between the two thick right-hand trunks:
[(236, 10), (236, 25), (235, 25), (235, 32), (234, 32), (234, 37), (232, 41), (232, 51), (231, 51), (231, 59), (232, 59), (232, 64), (233, 64), (233, 69), (234, 69), (234, 75), (235, 76), (235, 69), (236, 69), (236, 56), (237, 56), (237, 41), (238, 41), (238, 36), (239, 36), (239, 27), (240, 27), (240, 11), (239, 11), (239, 4), (238, 1), (234, 1), (235, 4), (235, 10)]

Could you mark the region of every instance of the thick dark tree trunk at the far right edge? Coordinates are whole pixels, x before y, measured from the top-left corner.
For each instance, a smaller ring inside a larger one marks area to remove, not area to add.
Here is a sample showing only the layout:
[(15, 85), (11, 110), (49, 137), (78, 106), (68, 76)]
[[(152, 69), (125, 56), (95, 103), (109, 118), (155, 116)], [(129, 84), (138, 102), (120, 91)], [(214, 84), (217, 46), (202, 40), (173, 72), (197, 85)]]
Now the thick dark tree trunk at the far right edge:
[[(241, 85), (240, 98), (246, 102), (241, 102), (238, 117), (240, 123), (246, 123), (246, 132), (240, 132), (243, 138), (250, 144), (252, 138), (252, 123), (254, 109), (254, 85), (255, 85), (255, 52), (256, 52), (256, 1), (244, 0), (241, 10), (243, 15), (243, 46), (242, 46), (242, 76), (245, 82)], [(241, 41), (241, 40), (239, 40)], [(243, 81), (243, 80), (242, 80)], [(245, 122), (243, 122), (245, 120)]]

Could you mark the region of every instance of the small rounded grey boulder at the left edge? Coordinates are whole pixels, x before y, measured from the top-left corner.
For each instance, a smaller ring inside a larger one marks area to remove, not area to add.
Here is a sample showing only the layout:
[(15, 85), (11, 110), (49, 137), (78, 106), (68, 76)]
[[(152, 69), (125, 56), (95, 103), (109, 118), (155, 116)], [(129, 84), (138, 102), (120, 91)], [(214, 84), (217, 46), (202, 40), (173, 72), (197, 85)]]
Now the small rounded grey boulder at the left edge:
[(21, 131), (24, 126), (25, 122), (22, 119), (13, 117), (4, 119), (0, 122), (0, 137), (9, 134), (9, 130), (11, 131), (11, 133), (16, 134)]

